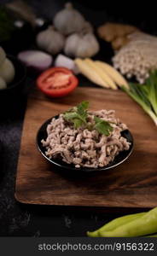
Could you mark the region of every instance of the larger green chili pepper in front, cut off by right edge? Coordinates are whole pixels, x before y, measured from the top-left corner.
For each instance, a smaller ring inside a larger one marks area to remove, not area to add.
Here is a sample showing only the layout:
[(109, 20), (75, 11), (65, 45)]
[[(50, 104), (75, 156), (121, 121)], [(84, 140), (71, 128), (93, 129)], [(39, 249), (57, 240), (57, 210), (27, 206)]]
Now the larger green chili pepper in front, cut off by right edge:
[(99, 231), (102, 237), (136, 237), (147, 236), (157, 232), (157, 207), (146, 212), (141, 218), (122, 224), (111, 231)]

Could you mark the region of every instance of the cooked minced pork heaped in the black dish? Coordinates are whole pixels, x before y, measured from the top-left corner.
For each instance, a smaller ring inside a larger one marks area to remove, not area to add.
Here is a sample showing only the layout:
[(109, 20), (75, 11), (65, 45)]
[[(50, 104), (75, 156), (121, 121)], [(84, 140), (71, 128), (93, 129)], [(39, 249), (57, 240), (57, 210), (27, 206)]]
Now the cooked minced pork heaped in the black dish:
[(113, 110), (88, 111), (89, 123), (94, 123), (94, 116), (109, 121), (113, 126), (108, 137), (96, 130), (74, 129), (62, 113), (58, 119), (53, 118), (47, 126), (48, 137), (42, 140), (49, 159), (60, 158), (77, 168), (97, 168), (107, 166), (120, 151), (130, 148), (130, 143), (120, 133), (127, 126), (115, 118)]

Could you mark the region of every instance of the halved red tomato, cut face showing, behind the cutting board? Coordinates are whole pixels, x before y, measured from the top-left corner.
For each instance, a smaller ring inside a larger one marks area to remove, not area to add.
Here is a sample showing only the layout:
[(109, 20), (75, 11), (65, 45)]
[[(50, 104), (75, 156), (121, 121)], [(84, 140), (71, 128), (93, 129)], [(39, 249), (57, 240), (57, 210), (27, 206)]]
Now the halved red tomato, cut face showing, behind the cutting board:
[(78, 79), (66, 67), (51, 67), (38, 77), (37, 85), (47, 96), (61, 97), (76, 88)]

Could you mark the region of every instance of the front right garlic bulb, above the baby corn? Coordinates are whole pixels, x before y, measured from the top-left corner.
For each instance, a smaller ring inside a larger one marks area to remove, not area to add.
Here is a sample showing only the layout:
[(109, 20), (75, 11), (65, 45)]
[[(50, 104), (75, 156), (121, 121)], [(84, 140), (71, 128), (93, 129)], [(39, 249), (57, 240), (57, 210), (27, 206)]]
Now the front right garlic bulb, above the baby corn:
[(99, 51), (99, 44), (94, 34), (88, 33), (74, 33), (66, 40), (64, 52), (68, 56), (87, 58)]

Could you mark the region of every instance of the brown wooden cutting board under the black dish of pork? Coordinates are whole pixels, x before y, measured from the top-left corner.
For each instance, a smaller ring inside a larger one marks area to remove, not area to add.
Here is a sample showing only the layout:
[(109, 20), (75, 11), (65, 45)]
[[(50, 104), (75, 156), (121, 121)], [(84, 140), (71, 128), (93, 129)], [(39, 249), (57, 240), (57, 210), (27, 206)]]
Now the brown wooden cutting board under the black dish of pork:
[[(56, 172), (36, 147), (46, 119), (83, 100), (90, 108), (115, 109), (135, 141), (133, 154), (113, 170), (85, 177)], [(22, 203), (82, 207), (157, 206), (157, 129), (136, 102), (118, 90), (81, 87), (62, 99), (35, 91), (29, 97), (21, 138), (15, 198)]]

